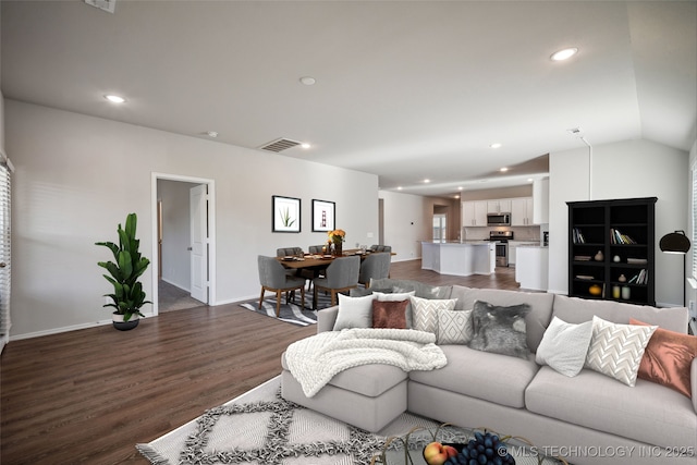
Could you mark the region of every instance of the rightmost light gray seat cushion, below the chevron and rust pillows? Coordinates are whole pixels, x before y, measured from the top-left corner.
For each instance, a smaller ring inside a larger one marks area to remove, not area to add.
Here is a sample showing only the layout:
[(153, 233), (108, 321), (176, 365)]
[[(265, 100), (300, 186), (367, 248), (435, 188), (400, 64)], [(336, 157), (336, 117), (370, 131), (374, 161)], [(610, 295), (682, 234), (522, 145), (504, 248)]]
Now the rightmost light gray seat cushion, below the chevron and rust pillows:
[(574, 378), (542, 367), (525, 391), (530, 412), (661, 446), (695, 444), (689, 399), (646, 380), (629, 388), (584, 369)]

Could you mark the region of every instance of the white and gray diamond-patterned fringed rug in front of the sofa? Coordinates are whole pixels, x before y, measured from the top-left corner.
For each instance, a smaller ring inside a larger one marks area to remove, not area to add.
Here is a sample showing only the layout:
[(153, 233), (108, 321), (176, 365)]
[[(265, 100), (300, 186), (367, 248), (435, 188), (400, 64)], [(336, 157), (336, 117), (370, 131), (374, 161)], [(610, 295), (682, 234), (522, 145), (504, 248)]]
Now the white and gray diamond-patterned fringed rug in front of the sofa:
[(136, 449), (156, 465), (368, 465), (388, 438), (438, 426), (405, 413), (374, 435), (283, 400), (280, 386), (279, 376)]

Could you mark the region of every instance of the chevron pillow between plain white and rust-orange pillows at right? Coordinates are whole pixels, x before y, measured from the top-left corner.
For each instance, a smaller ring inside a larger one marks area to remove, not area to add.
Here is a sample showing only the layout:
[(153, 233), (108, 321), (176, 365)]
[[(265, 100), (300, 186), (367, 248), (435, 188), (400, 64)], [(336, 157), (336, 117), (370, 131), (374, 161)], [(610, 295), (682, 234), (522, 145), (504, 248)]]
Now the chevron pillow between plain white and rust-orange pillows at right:
[(644, 351), (657, 328), (619, 325), (594, 316), (586, 367), (634, 387)]

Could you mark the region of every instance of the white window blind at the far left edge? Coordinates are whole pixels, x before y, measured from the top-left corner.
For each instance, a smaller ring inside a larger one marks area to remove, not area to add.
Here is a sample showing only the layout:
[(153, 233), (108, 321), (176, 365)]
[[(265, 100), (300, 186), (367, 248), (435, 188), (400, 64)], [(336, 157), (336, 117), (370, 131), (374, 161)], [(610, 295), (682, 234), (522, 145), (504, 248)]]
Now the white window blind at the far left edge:
[(11, 327), (11, 166), (7, 161), (0, 162), (0, 336), (3, 343), (8, 340)]

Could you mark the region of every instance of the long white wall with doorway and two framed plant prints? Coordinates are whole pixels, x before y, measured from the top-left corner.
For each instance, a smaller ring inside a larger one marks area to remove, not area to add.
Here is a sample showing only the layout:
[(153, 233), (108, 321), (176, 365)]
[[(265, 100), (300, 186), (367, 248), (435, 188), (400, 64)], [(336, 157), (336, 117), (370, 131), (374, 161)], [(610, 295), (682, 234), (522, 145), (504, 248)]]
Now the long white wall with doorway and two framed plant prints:
[[(151, 173), (215, 180), (213, 304), (258, 297), (258, 254), (322, 243), (313, 233), (313, 198), (337, 203), (347, 244), (378, 228), (376, 175), (5, 100), (13, 180), (12, 336), (80, 328), (110, 319), (110, 285), (97, 261), (117, 223), (138, 215), (145, 256), (154, 259)], [(302, 232), (271, 232), (271, 196), (302, 199)], [(155, 260), (154, 260), (155, 261)], [(150, 268), (144, 286), (152, 295)], [(149, 306), (148, 306), (149, 307)], [(145, 313), (150, 308), (145, 308)]]

